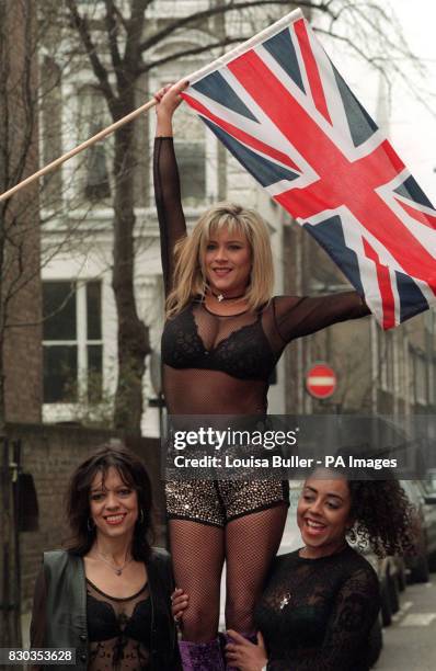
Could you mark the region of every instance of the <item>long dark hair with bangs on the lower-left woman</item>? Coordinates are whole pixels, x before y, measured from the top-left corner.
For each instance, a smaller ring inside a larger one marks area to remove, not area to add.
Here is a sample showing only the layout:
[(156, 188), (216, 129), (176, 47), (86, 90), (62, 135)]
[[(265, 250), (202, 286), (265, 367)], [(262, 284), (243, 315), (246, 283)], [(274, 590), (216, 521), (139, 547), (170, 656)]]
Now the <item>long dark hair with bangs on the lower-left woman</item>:
[(125, 485), (136, 490), (140, 514), (135, 524), (131, 555), (136, 561), (147, 561), (152, 532), (151, 482), (140, 458), (124, 445), (101, 445), (72, 474), (66, 497), (71, 535), (64, 546), (81, 557), (91, 549), (95, 539), (95, 526), (89, 524), (90, 489), (95, 476), (100, 473), (104, 480), (111, 467), (116, 468)]

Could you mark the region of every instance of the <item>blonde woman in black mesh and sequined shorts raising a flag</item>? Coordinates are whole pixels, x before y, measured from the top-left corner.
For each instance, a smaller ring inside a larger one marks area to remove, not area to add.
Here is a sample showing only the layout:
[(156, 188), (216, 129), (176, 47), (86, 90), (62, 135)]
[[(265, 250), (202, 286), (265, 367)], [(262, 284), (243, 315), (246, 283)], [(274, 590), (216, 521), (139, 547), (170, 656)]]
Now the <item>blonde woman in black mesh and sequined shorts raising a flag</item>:
[[(186, 236), (172, 139), (172, 117), (186, 86), (156, 94), (165, 401), (172, 414), (264, 416), (268, 379), (286, 344), (368, 309), (355, 292), (273, 297), (267, 228), (239, 205), (211, 207)], [(283, 534), (287, 482), (170, 481), (167, 505), (175, 582), (190, 594), (184, 669), (225, 669), (217, 638), (223, 561), (226, 625), (250, 636), (254, 603)]]

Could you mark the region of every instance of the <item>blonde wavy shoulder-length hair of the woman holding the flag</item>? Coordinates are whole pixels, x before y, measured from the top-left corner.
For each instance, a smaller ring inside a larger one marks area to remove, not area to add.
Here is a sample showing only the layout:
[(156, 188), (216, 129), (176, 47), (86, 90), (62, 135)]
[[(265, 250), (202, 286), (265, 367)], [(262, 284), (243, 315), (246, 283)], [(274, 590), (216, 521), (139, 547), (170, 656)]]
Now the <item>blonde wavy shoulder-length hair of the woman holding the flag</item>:
[(173, 289), (167, 298), (167, 317), (177, 315), (194, 297), (207, 291), (205, 255), (210, 238), (227, 228), (244, 235), (251, 248), (252, 266), (245, 300), (256, 310), (271, 300), (274, 286), (269, 234), (262, 217), (253, 209), (231, 203), (218, 203), (198, 219), (192, 234), (175, 246)]

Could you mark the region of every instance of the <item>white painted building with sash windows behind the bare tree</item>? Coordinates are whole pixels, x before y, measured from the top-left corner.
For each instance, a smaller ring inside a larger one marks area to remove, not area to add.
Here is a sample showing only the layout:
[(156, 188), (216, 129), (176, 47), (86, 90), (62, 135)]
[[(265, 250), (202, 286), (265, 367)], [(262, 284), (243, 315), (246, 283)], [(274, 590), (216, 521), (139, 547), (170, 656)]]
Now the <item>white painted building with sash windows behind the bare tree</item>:
[[(154, 2), (149, 10), (150, 21), (164, 15), (193, 11), (208, 2), (188, 1)], [(229, 30), (239, 30), (230, 24)], [(246, 26), (249, 30), (252, 26)], [(161, 59), (174, 50), (187, 50), (210, 36), (199, 31), (188, 31), (174, 36), (153, 54)], [(58, 53), (62, 53), (58, 49)], [(152, 70), (145, 80), (144, 94), (138, 93), (138, 105), (144, 98), (168, 81), (176, 81), (210, 59), (186, 58), (182, 62), (168, 64)], [(60, 57), (61, 60), (61, 57)], [(60, 68), (61, 62), (50, 67)], [(58, 104), (50, 104), (43, 114), (43, 151), (45, 161), (57, 152), (66, 151), (110, 123), (104, 101), (95, 93), (94, 79), (84, 61), (82, 69), (65, 69), (61, 89), (57, 91)], [(62, 141), (50, 138), (50, 127), (57, 123), (64, 128)], [(151, 344), (159, 352), (163, 325), (163, 289), (160, 266), (159, 229), (152, 197), (151, 152), (154, 113), (137, 122), (138, 143), (145, 160), (137, 171), (138, 207), (136, 299), (140, 318), (150, 327)], [(218, 140), (183, 106), (175, 120), (176, 152), (182, 173), (184, 206), (188, 226), (199, 214), (219, 200), (238, 202), (257, 209), (272, 231), (276, 293), (283, 291), (282, 230), (285, 213), (255, 184), (249, 173), (241, 170), (234, 159), (218, 146)], [(88, 156), (79, 156), (62, 167), (58, 180), (58, 214), (49, 216), (43, 230), (45, 254), (43, 283), (45, 315), (53, 315), (45, 322), (45, 393), (43, 417), (46, 422), (83, 421), (93, 413), (106, 418), (115, 391), (117, 375), (117, 317), (112, 281), (112, 217), (111, 207), (111, 139), (106, 139)], [(104, 178), (107, 178), (105, 181)], [(99, 191), (100, 201), (95, 201)], [(71, 206), (71, 203), (79, 206)], [(49, 215), (49, 208), (45, 212)], [(53, 207), (51, 207), (53, 209)], [(67, 238), (67, 243), (65, 239)], [(142, 431), (145, 435), (158, 435), (159, 410), (149, 406), (156, 397), (149, 369), (144, 380), (145, 409)], [(91, 402), (89, 402), (89, 400)], [(285, 411), (283, 364), (278, 365), (277, 380), (271, 387), (269, 407), (274, 412)]]

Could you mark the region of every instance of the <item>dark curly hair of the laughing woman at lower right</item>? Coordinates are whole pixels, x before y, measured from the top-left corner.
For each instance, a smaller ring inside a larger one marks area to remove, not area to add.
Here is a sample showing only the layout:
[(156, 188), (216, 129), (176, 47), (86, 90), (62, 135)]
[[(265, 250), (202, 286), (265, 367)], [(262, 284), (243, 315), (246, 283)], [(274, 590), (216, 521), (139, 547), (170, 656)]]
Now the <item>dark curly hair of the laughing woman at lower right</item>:
[(365, 548), (369, 543), (378, 557), (416, 551), (417, 516), (404, 489), (393, 477), (385, 480), (348, 479), (354, 525), (351, 543)]

